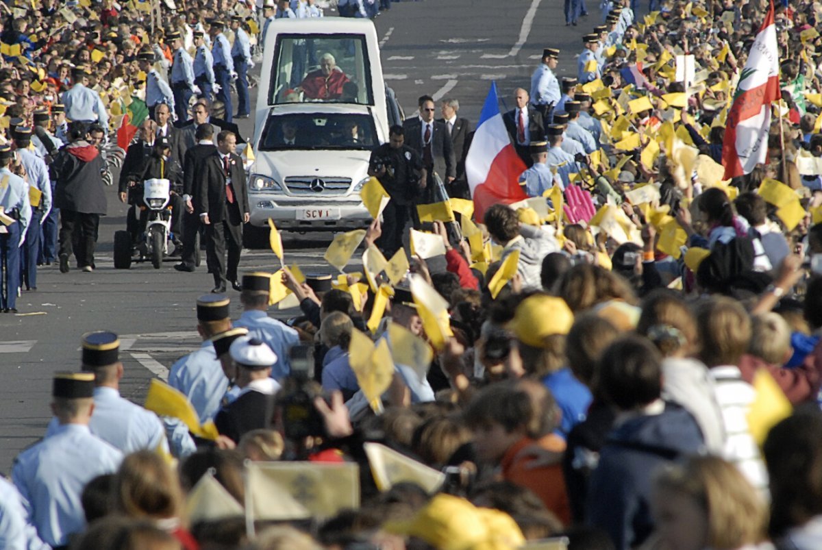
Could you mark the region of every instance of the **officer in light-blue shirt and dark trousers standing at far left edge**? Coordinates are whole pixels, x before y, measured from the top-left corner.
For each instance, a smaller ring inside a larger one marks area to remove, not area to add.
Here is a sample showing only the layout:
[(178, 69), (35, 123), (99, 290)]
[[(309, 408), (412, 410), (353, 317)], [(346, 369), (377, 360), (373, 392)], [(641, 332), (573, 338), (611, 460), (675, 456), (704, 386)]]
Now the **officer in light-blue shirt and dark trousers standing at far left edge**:
[(31, 219), (29, 184), (9, 169), (13, 156), (10, 146), (0, 146), (0, 311), (4, 313), (17, 312), (21, 247)]

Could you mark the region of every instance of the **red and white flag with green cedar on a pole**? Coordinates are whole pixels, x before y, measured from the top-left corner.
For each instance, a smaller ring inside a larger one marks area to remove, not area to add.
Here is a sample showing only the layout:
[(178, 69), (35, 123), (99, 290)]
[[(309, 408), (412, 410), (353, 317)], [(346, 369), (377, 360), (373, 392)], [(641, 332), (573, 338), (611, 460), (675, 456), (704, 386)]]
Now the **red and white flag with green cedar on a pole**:
[(779, 50), (774, 2), (770, 2), (727, 113), (722, 150), (725, 179), (750, 173), (767, 159), (770, 104), (779, 97)]

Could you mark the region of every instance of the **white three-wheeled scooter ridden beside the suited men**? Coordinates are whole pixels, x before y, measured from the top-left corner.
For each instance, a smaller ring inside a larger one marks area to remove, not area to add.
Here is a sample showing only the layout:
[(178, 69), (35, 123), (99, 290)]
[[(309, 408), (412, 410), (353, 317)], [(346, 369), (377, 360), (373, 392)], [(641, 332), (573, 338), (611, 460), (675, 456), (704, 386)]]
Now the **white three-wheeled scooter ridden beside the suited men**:
[(143, 182), (143, 204), (148, 216), (141, 243), (132, 245), (132, 236), (127, 231), (114, 233), (114, 267), (128, 269), (134, 261), (150, 258), (151, 265), (159, 270), (163, 258), (169, 256), (171, 243), (171, 182), (168, 179), (151, 178)]

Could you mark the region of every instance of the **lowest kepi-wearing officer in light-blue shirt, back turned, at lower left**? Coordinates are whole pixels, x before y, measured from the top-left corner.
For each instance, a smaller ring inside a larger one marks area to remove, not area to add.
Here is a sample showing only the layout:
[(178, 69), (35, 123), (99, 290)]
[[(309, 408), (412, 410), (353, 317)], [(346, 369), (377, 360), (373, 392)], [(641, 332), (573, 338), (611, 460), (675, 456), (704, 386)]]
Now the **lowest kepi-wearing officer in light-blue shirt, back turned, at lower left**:
[(25, 502), (28, 522), (49, 546), (69, 543), (85, 529), (80, 497), (86, 483), (113, 474), (122, 453), (90, 432), (95, 409), (95, 375), (58, 372), (52, 388), (52, 412), (58, 427), (21, 452), (12, 467), (12, 482)]

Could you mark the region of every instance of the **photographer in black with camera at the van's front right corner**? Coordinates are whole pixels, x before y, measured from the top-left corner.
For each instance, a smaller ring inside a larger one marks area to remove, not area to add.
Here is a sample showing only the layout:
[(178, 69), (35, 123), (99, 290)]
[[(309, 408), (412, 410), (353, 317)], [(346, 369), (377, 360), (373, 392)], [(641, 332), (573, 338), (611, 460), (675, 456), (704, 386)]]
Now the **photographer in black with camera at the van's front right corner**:
[(382, 212), (382, 235), (377, 246), (391, 257), (403, 246), (403, 234), (412, 215), (412, 206), (426, 187), (423, 159), (405, 145), (403, 127), (390, 128), (389, 141), (372, 151), (368, 175), (380, 180), (391, 197)]

